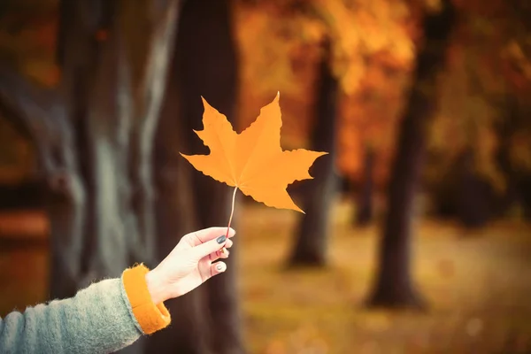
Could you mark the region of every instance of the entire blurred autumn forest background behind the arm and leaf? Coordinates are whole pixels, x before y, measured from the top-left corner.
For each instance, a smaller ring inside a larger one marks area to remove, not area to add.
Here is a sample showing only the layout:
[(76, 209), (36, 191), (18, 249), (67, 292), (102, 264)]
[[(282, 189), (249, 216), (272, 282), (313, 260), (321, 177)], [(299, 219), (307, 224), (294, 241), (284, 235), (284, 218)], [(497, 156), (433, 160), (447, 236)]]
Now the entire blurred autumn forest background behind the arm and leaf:
[(239, 194), (229, 271), (123, 351), (530, 352), (526, 0), (3, 0), (0, 316), (227, 225), (179, 151), (277, 91), (306, 213)]

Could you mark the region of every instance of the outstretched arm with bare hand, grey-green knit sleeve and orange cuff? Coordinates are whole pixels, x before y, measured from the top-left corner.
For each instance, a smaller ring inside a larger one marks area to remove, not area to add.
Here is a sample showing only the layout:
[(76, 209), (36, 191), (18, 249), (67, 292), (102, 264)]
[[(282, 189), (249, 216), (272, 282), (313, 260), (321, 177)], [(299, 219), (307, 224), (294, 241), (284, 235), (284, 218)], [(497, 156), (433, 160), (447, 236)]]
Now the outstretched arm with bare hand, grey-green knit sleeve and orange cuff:
[[(135, 266), (121, 279), (94, 283), (65, 300), (28, 307), (0, 319), (0, 353), (109, 353), (170, 324), (164, 302), (196, 289), (227, 265), (227, 227), (182, 237), (152, 271)], [(221, 236), (219, 236), (221, 235)], [(235, 235), (232, 228), (229, 237)]]

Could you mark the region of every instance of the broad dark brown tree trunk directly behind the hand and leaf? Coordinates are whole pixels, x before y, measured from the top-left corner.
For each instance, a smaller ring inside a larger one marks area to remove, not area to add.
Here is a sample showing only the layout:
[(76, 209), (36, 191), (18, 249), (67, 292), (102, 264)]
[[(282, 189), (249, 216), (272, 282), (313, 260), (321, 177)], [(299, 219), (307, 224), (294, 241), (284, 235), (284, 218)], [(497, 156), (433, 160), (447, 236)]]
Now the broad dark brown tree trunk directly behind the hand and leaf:
[[(229, 0), (188, 0), (181, 9), (156, 149), (159, 257), (173, 249), (177, 240), (172, 235), (228, 222), (232, 189), (197, 173), (178, 151), (208, 153), (193, 132), (203, 128), (201, 96), (235, 122), (238, 60), (230, 4)], [(244, 352), (236, 292), (237, 245), (230, 251), (226, 273), (168, 302), (179, 319), (153, 335), (150, 352)]]

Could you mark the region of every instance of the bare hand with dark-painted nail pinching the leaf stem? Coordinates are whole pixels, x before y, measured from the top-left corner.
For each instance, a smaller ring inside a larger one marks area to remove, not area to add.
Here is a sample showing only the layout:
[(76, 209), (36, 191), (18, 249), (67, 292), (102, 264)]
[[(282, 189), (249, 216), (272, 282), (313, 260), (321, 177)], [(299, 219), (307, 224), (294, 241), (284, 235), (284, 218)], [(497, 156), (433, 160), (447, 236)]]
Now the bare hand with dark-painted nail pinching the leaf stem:
[[(210, 227), (184, 235), (170, 254), (146, 274), (146, 282), (153, 303), (182, 296), (196, 289), (212, 276), (225, 272), (227, 265), (219, 258), (227, 258), (233, 242), (226, 239), (227, 227)], [(228, 237), (235, 230), (229, 228)]]

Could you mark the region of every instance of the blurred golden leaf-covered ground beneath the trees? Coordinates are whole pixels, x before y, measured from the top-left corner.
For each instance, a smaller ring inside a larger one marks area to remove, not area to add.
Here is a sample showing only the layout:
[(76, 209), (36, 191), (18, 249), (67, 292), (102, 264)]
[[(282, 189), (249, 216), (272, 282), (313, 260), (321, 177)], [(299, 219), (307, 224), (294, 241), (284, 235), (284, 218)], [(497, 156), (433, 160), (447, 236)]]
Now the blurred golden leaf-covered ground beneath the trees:
[[(337, 204), (327, 269), (285, 271), (299, 215), (258, 204), (242, 208), (235, 241), (251, 354), (531, 352), (531, 226), (504, 221), (471, 233), (420, 221), (414, 270), (429, 312), (367, 312), (361, 304), (379, 234), (376, 227), (350, 227), (350, 213), (349, 204)], [(38, 215), (0, 218), (3, 235), (12, 233), (8, 221), (42, 239)], [(5, 239), (0, 316), (47, 297), (46, 242), (18, 247)]]

